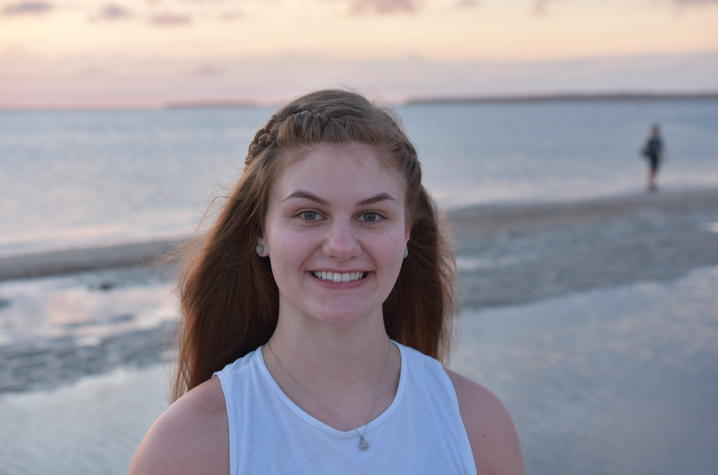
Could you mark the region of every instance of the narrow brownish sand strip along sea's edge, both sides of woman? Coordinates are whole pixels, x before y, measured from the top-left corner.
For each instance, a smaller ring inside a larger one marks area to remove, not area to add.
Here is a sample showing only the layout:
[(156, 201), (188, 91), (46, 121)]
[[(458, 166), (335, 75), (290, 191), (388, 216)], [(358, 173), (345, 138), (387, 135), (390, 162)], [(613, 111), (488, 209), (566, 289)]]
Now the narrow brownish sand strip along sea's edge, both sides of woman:
[[(718, 210), (718, 187), (629, 193), (608, 197), (555, 202), (501, 202), (445, 210), (456, 241), (457, 255), (471, 241), (502, 233), (531, 233), (596, 221), (626, 218), (640, 213), (692, 213)], [(168, 253), (192, 236), (115, 245), (0, 256), (0, 282), (67, 275), (128, 267), (164, 266)]]

